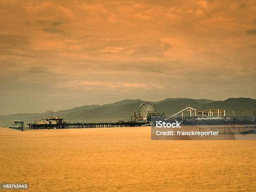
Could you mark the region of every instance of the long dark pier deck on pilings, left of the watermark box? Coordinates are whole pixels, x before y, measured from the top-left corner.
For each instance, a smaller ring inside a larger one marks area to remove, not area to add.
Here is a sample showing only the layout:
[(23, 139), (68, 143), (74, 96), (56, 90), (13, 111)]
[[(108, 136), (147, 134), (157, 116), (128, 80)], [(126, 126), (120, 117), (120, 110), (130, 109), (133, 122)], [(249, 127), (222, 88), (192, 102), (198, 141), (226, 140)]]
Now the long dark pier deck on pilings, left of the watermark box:
[(111, 127), (141, 127), (149, 125), (145, 122), (116, 122), (116, 123), (61, 123), (36, 124), (28, 123), (29, 129), (73, 129), (73, 128), (111, 128)]

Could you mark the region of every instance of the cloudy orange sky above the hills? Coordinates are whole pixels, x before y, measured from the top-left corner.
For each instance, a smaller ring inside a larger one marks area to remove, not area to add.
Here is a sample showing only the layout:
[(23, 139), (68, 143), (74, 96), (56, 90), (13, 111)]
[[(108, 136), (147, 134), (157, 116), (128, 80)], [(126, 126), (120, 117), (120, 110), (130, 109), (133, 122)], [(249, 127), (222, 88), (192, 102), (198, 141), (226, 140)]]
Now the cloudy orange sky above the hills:
[(0, 0), (0, 114), (256, 98), (256, 1)]

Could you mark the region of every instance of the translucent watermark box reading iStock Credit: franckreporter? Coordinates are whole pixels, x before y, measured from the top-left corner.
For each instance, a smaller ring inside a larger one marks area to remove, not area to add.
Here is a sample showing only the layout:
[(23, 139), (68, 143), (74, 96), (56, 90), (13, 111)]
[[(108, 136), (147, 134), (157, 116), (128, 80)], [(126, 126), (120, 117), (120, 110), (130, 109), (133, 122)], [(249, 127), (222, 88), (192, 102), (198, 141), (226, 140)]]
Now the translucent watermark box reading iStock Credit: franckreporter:
[(181, 122), (156, 121), (151, 140), (256, 140), (256, 127), (241, 125), (181, 125)]

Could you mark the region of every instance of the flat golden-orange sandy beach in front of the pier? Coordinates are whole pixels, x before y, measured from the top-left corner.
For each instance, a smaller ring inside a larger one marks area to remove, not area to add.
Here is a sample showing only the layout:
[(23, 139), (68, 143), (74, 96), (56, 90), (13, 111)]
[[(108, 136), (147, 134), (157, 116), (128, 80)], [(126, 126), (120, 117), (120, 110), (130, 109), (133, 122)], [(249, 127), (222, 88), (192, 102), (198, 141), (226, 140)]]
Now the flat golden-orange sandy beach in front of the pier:
[(29, 191), (256, 191), (256, 141), (150, 138), (150, 127), (0, 128), (0, 183), (29, 183)]

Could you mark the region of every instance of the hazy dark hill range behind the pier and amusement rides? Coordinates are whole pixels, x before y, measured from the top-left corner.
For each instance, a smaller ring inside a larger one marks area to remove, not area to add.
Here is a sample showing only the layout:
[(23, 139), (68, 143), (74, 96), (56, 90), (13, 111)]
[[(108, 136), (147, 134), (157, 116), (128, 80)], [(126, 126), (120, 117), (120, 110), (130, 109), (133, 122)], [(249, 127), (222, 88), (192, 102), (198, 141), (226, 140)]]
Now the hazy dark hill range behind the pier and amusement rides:
[[(142, 100), (122, 100), (105, 105), (84, 105), (69, 110), (53, 112), (53, 116), (59, 116), (66, 121), (116, 121), (127, 120), (133, 116), (134, 111), (138, 114), (138, 108)], [(256, 100), (251, 98), (229, 98), (224, 101), (190, 98), (167, 98), (154, 102), (158, 112), (172, 115), (189, 105), (197, 110), (224, 109), (227, 116), (250, 116), (256, 110)], [(0, 115), (0, 126), (12, 124), (13, 120), (24, 120), (25, 123), (49, 117), (50, 111), (44, 113), (20, 113), (13, 115)]]

